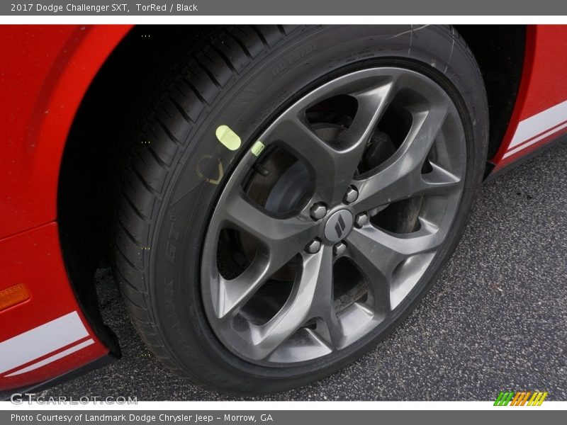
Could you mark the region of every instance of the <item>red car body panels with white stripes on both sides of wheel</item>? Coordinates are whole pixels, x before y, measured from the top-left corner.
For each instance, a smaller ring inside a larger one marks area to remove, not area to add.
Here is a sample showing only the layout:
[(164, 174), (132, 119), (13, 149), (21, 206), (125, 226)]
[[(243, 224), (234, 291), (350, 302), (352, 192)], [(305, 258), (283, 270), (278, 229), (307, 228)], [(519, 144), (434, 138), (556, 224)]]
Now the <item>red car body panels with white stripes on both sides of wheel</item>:
[[(69, 283), (57, 183), (79, 104), (130, 29), (0, 26), (0, 390), (32, 387), (109, 352)], [(567, 27), (530, 26), (526, 37), (493, 174), (567, 132)]]

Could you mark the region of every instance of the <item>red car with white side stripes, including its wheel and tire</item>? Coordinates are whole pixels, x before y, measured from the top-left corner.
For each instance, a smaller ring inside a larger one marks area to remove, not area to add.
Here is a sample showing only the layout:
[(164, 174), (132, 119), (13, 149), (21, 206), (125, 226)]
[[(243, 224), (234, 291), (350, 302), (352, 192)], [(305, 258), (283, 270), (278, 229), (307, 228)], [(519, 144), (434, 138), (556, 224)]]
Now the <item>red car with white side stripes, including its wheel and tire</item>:
[[(562, 26), (2, 26), (0, 389), (120, 354), (274, 392), (404, 319), (483, 179), (567, 130)], [(466, 300), (463, 300), (466, 302)]]

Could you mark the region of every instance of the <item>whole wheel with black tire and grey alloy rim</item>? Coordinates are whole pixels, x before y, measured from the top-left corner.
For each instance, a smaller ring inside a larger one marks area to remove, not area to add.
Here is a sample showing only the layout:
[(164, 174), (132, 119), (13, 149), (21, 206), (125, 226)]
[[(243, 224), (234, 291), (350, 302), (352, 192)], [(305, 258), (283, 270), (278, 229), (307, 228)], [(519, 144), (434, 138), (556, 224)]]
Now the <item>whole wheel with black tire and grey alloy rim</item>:
[(486, 159), (481, 74), (451, 27), (225, 27), (198, 46), (133, 139), (116, 280), (179, 375), (304, 385), (391, 332), (454, 251)]

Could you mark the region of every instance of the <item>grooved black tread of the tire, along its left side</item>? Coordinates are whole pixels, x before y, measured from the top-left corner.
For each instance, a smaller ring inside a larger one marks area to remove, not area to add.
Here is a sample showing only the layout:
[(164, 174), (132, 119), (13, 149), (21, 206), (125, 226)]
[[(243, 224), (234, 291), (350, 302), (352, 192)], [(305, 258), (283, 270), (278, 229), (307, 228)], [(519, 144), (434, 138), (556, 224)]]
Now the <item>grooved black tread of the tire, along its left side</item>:
[[(251, 26), (247, 30), (222, 28), (212, 38), (203, 40), (198, 52), (192, 52), (181, 61), (183, 64), (170, 80), (172, 84), (167, 89), (161, 88), (163, 93), (155, 107), (140, 120), (145, 124), (131, 137), (135, 141), (131, 143), (118, 185), (111, 258), (130, 319), (154, 356), (196, 385), (203, 385), (203, 382), (187, 373), (176, 361), (152, 311), (150, 288), (147, 287), (152, 220), (164, 196), (164, 182), (172, 164), (191, 144), (188, 136), (203, 111), (213, 105), (223, 88), (235, 81), (254, 57), (263, 50), (274, 48), (285, 37), (286, 33), (276, 26)], [(147, 140), (150, 143), (142, 143)], [(196, 367), (207, 369), (204, 364)], [(218, 375), (215, 370), (208, 370), (208, 373)], [(237, 382), (230, 382), (231, 387), (236, 385)]]

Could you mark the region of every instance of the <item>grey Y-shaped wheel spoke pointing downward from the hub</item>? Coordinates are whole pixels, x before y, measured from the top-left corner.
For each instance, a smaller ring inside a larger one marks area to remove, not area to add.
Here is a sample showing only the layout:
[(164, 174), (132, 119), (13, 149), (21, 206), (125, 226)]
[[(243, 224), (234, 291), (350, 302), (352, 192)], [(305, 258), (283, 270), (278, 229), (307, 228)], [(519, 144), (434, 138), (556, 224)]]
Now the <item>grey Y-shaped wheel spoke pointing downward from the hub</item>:
[(251, 325), (255, 359), (268, 357), (310, 319), (327, 324), (332, 344), (339, 338), (339, 323), (332, 304), (332, 249), (324, 246), (318, 254), (305, 255), (297, 289), (286, 305), (266, 324)]

